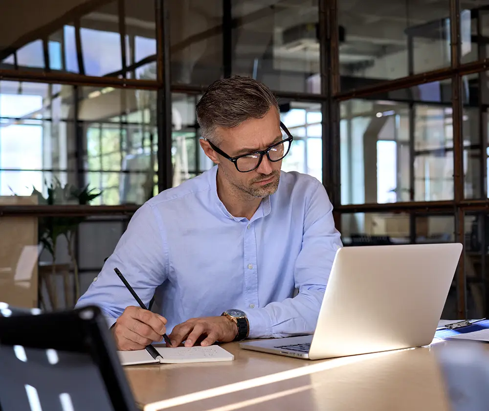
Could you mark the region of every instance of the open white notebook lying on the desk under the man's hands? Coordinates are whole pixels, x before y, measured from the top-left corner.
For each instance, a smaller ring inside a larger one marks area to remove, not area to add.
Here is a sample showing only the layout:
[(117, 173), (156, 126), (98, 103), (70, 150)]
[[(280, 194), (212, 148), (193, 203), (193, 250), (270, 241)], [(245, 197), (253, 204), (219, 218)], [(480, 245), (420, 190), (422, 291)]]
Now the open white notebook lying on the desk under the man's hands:
[(215, 361), (233, 361), (234, 355), (219, 345), (208, 347), (155, 347), (154, 358), (146, 349), (134, 351), (117, 351), (122, 365), (137, 364), (183, 364), (210, 363)]

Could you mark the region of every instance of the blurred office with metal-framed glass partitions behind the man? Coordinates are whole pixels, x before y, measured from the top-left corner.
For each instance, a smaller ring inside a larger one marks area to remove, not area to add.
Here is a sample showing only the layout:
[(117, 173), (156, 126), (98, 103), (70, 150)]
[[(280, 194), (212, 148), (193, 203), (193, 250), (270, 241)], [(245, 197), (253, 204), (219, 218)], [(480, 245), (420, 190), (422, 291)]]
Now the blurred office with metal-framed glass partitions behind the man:
[(0, 301), (72, 307), (138, 206), (212, 166), (195, 105), (241, 74), (346, 246), (463, 242), (444, 318), (488, 315), (488, 0), (16, 0), (0, 21)]

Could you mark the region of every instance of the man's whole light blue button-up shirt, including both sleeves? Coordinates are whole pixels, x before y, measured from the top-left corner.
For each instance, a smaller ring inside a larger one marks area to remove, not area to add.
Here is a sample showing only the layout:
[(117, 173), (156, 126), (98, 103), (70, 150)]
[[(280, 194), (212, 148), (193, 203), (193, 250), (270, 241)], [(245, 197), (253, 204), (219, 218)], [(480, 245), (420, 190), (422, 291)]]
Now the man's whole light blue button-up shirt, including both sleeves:
[(249, 338), (312, 334), (342, 246), (323, 185), (282, 171), (248, 220), (222, 204), (216, 175), (214, 166), (141, 206), (76, 306), (98, 305), (109, 325), (137, 306), (117, 267), (146, 305), (155, 295), (152, 311), (168, 320), (168, 334), (231, 308), (246, 313)]

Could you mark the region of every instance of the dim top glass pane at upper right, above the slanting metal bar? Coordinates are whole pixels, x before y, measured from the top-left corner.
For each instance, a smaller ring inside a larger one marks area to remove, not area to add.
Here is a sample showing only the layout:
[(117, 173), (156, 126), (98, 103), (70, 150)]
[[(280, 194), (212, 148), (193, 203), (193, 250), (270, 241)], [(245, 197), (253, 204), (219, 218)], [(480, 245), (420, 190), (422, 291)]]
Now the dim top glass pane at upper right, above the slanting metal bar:
[(338, 1), (341, 89), (450, 66), (449, 2)]

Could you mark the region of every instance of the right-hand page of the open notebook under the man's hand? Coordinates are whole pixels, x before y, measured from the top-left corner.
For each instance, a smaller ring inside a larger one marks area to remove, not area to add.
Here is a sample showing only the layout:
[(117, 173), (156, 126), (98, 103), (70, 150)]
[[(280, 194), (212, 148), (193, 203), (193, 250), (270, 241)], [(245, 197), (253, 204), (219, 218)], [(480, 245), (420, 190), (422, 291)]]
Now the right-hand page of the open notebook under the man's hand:
[(157, 347), (161, 355), (160, 363), (178, 364), (178, 363), (209, 363), (214, 361), (233, 361), (234, 355), (227, 352), (219, 345), (209, 347)]

